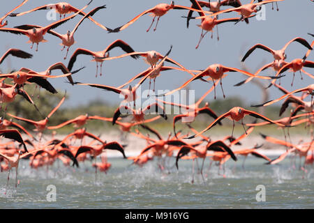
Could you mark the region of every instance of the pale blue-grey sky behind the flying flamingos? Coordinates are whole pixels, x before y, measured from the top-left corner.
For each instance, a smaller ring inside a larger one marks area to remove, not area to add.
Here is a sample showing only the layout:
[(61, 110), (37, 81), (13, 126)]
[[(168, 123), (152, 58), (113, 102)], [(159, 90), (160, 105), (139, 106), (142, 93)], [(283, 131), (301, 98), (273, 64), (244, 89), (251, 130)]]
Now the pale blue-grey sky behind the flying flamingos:
[[(251, 0), (250, 0), (251, 1)], [(15, 8), (22, 0), (6, 1), (1, 6), (1, 14)], [(47, 3), (56, 3), (58, 1), (45, 1), (45, 0), (29, 0), (21, 8), (17, 9), (15, 13), (30, 10), (38, 6), (43, 6)], [(82, 8), (88, 1), (74, 1), (68, 0), (68, 3), (76, 8)], [(242, 0), (243, 4), (248, 3), (248, 0)], [(98, 6), (106, 5), (107, 8), (98, 11), (94, 15), (94, 20), (100, 22), (104, 26), (111, 29), (125, 24), (136, 15), (142, 13), (156, 6), (158, 3), (170, 3), (170, 1), (155, 1), (155, 0), (136, 0), (136, 1), (100, 1), (94, 0), (85, 12), (96, 8)], [(176, 4), (182, 6), (190, 6), (190, 1), (181, 0), (175, 1)], [(170, 10), (166, 15), (160, 17), (156, 31), (149, 31), (147, 28), (151, 24), (152, 17), (144, 15), (139, 20), (128, 26), (119, 33), (107, 33), (107, 31), (96, 26), (90, 20), (84, 20), (75, 33), (75, 45), (70, 47), (68, 58), (63, 60), (65, 51), (61, 52), (61, 40), (59, 38), (47, 33), (45, 39), (47, 43), (40, 43), (38, 52), (30, 49), (31, 44), (27, 43), (29, 38), (23, 35), (15, 35), (13, 33), (0, 33), (0, 54), (6, 52), (10, 47), (22, 49), (26, 52), (33, 54), (32, 59), (19, 59), (10, 56), (0, 65), (3, 71), (10, 70), (11, 68), (20, 69), (22, 67), (30, 68), (38, 72), (46, 70), (52, 63), (63, 62), (68, 66), (70, 56), (75, 52), (78, 47), (90, 49), (92, 51), (100, 51), (105, 49), (107, 45), (114, 40), (121, 39), (130, 45), (137, 52), (146, 52), (149, 50), (156, 50), (160, 54), (165, 54), (170, 45), (173, 45), (170, 58), (181, 63), (185, 68), (199, 70), (205, 69), (214, 63), (220, 63), (223, 66), (234, 67), (241, 69), (241, 58), (245, 52), (257, 43), (267, 45), (272, 49), (281, 49), (285, 43), (297, 36), (306, 38), (308, 43), (312, 43), (313, 37), (307, 33), (314, 33), (314, 26), (311, 24), (314, 20), (314, 3), (310, 0), (285, 0), (278, 2), (279, 11), (271, 10), (271, 3), (265, 6), (265, 20), (257, 20), (255, 17), (250, 19), (250, 23), (227, 22), (218, 26), (219, 40), (217, 40), (216, 28), (214, 29), (214, 38), (211, 39), (211, 34), (207, 35), (202, 40), (200, 47), (195, 49), (197, 42), (200, 38), (201, 29), (197, 26), (200, 20), (190, 20), (190, 26), (186, 28), (186, 19), (181, 16), (186, 16), (186, 10)], [(223, 9), (228, 7), (223, 7)], [(51, 22), (47, 20), (48, 10), (40, 10), (20, 17), (8, 17), (8, 26), (13, 27), (22, 24), (36, 24), (46, 26)], [(198, 15), (194, 13), (194, 15)], [(228, 17), (239, 17), (237, 13), (225, 13), (220, 15), (219, 19)], [(77, 22), (82, 17), (78, 15), (73, 20), (62, 24), (54, 29), (58, 33), (66, 33), (72, 30)], [(59, 20), (59, 17), (57, 16)], [(156, 22), (156, 21), (155, 21)], [(155, 24), (154, 24), (155, 25)], [(154, 28), (153, 25), (153, 28)], [(307, 49), (299, 43), (292, 43), (287, 47), (286, 54), (287, 60), (302, 58), (306, 54)], [(115, 48), (110, 51), (110, 56), (119, 56), (124, 52)], [(103, 63), (103, 76), (95, 77), (96, 75), (96, 62), (91, 61), (91, 56), (80, 55), (77, 56), (77, 61), (74, 64), (73, 70), (86, 66), (83, 70), (73, 75), (76, 82), (91, 83), (91, 84), (105, 84), (109, 86), (119, 86), (127, 82), (130, 78), (138, 73), (149, 68), (149, 65), (143, 59), (132, 59), (125, 57), (123, 59), (116, 59), (105, 61)], [(308, 56), (308, 60), (314, 60), (314, 54)], [(246, 66), (255, 72), (258, 68), (266, 63), (273, 61), (273, 56), (268, 52), (261, 49), (255, 50), (251, 56), (246, 59)], [(166, 64), (167, 65), (167, 64)], [(170, 64), (171, 66), (171, 64)], [(313, 74), (311, 68), (305, 68), (308, 72)], [(52, 72), (53, 75), (59, 75), (60, 72)], [(264, 75), (274, 75), (274, 71), (269, 69), (263, 72)], [(308, 84), (313, 83), (313, 79), (303, 75), (304, 79), (301, 80), (297, 73), (294, 79), (294, 85), (290, 86), (292, 81), (292, 73), (285, 72), (286, 76), (281, 79), (281, 84), (289, 91), (299, 89)], [(188, 79), (190, 75), (187, 72), (181, 71), (167, 71), (162, 72), (160, 77), (156, 79), (156, 89), (175, 89)], [(253, 83), (248, 83), (239, 87), (233, 86), (237, 82), (242, 81), (246, 77), (238, 72), (230, 72), (225, 79), (223, 79), (223, 88), (227, 97), (240, 96), (248, 103), (257, 104), (262, 100), (262, 91), (257, 88)], [(70, 95), (68, 100), (64, 102), (64, 107), (71, 107), (76, 105), (84, 105), (89, 100), (104, 100), (117, 104), (121, 101), (119, 95), (110, 91), (102, 91), (101, 89), (94, 89), (89, 86), (72, 86), (66, 83), (65, 78), (50, 79), (52, 85), (59, 89), (59, 93), (66, 90)], [(264, 81), (267, 86), (269, 81)], [(134, 82), (136, 84), (136, 82)], [(149, 82), (144, 82), (143, 88), (147, 89)], [(195, 81), (189, 86), (189, 89), (195, 89), (196, 98), (200, 98), (212, 84)], [(271, 94), (270, 98), (278, 98), (281, 92), (274, 86), (269, 89)], [(220, 87), (217, 88), (217, 97), (222, 98)], [(206, 100), (213, 100), (214, 95), (211, 93), (207, 95)]]

